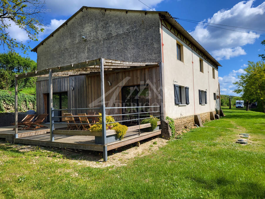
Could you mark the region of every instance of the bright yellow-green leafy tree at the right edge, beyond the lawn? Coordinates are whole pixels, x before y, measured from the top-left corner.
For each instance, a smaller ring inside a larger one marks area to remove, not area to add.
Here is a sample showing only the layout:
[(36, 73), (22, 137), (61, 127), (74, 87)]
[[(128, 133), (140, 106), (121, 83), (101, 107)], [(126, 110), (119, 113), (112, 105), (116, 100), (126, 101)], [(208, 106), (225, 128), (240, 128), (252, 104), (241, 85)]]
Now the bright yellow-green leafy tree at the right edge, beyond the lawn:
[(248, 101), (259, 101), (262, 104), (265, 113), (265, 63), (258, 61), (257, 63), (248, 62), (248, 67), (244, 69), (244, 73), (239, 75), (239, 81), (234, 82), (238, 89), (236, 93), (243, 93), (242, 97)]

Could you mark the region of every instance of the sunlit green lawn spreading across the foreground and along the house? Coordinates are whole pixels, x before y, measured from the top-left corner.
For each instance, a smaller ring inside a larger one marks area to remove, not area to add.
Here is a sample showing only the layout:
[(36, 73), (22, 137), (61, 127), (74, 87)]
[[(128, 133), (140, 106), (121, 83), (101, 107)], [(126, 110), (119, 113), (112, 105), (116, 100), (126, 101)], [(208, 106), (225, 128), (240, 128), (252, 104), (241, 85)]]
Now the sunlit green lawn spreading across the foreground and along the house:
[[(265, 114), (224, 114), (121, 167), (91, 168), (61, 150), (23, 152), (2, 141), (0, 198), (264, 198)], [(235, 143), (243, 132), (245, 146)]]

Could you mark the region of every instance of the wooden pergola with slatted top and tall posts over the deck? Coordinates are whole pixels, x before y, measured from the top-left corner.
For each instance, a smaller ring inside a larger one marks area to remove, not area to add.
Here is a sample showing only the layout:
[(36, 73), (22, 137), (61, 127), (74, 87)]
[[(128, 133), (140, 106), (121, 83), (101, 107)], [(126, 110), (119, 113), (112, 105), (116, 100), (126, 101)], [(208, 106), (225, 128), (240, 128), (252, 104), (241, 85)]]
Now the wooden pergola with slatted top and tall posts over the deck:
[[(105, 114), (105, 88), (104, 88), (104, 73), (120, 72), (124, 70), (135, 70), (140, 68), (160, 67), (160, 78), (162, 79), (163, 63), (142, 63), (142, 62), (126, 62), (118, 60), (110, 60), (98, 58), (76, 64), (69, 64), (65, 66), (57, 66), (54, 68), (46, 68), (44, 70), (28, 72), (15, 76), (15, 134), (14, 138), (18, 138), (18, 80), (27, 77), (49, 77), (49, 102), (50, 102), (50, 141), (54, 141), (54, 124), (53, 124), (53, 77), (67, 77), (76, 75), (97, 75), (100, 74), (101, 87), (101, 109), (102, 109), (102, 143), (106, 143), (106, 114)], [(162, 82), (160, 84), (162, 86)], [(162, 92), (162, 89), (161, 89)], [(161, 93), (161, 96), (164, 96)], [(163, 99), (161, 106), (161, 113), (163, 113)], [(103, 148), (104, 161), (107, 160), (107, 147)]]

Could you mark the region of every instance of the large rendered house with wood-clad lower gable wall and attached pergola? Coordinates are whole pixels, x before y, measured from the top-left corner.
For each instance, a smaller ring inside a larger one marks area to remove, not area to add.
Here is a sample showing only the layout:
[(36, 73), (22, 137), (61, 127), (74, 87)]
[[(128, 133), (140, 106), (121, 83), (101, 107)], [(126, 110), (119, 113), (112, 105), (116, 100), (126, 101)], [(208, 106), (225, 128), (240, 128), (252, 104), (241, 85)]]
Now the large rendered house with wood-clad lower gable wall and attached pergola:
[[(221, 65), (165, 11), (83, 6), (32, 51), (37, 53), (38, 71), (17, 78), (38, 76), (37, 114), (57, 109), (54, 117), (50, 114), (54, 122), (63, 122), (63, 111), (89, 109), (102, 112), (103, 118), (114, 115), (131, 129), (138, 128), (135, 117), (151, 114), (161, 121), (171, 117), (182, 129), (193, 127), (198, 117), (209, 120), (210, 113), (220, 109)], [(53, 130), (53, 122), (50, 129), (51, 141), (53, 131), (69, 135)], [(103, 128), (103, 145), (93, 149), (103, 151), (106, 160), (107, 150), (161, 134), (140, 134), (140, 129), (138, 137), (110, 146), (110, 132)]]

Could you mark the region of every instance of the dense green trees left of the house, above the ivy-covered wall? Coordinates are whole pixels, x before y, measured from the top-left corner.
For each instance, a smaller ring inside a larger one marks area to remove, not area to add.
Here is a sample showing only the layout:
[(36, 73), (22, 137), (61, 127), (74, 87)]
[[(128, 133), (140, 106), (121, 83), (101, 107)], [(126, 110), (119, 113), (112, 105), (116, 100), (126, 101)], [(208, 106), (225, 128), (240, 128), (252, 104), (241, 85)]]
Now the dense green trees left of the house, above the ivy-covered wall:
[[(15, 74), (37, 70), (37, 63), (29, 57), (21, 57), (18, 53), (8, 52), (0, 54), (0, 89), (8, 90), (14, 86)], [(35, 87), (36, 77), (29, 77), (18, 81), (18, 87)]]

